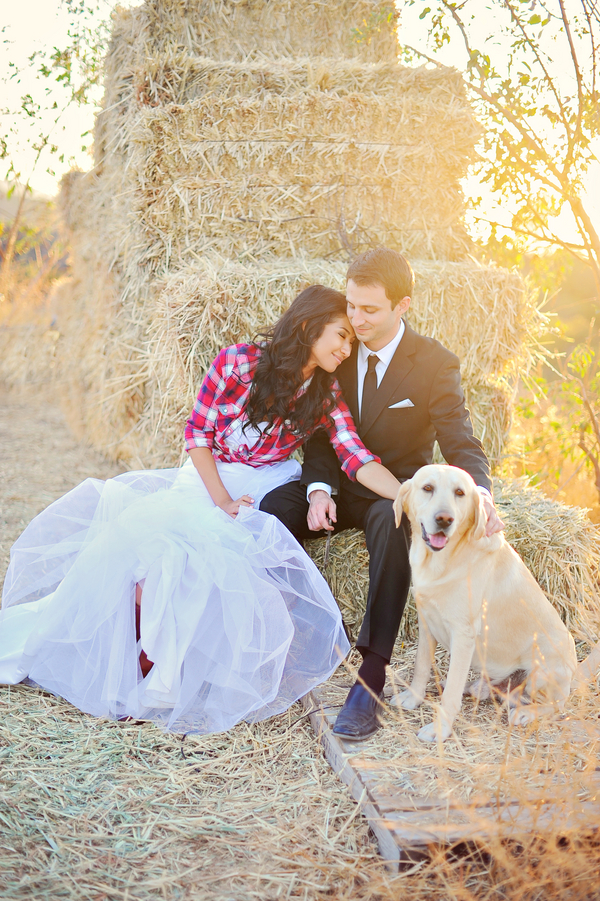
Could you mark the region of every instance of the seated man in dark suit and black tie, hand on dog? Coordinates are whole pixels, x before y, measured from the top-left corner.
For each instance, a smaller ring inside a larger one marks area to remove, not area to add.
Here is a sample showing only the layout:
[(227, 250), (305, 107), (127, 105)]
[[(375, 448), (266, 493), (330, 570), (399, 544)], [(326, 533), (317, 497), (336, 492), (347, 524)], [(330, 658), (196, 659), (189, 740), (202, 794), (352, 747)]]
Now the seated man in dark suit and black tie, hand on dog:
[[(385, 247), (363, 253), (350, 265), (348, 318), (358, 340), (336, 376), (359, 435), (383, 465), (399, 480), (409, 479), (431, 463), (437, 439), (445, 460), (466, 470), (480, 486), (488, 514), (486, 531), (492, 534), (503, 525), (490, 494), (489, 463), (465, 408), (459, 361), (402, 318), (413, 285), (408, 262)], [(369, 593), (356, 642), (363, 662), (334, 732), (346, 739), (368, 738), (379, 728), (378, 699), (410, 585), (406, 516), (396, 529), (392, 501), (341, 472), (324, 432), (305, 445), (301, 481), (272, 491), (260, 506), (299, 541), (322, 530), (364, 530)]]

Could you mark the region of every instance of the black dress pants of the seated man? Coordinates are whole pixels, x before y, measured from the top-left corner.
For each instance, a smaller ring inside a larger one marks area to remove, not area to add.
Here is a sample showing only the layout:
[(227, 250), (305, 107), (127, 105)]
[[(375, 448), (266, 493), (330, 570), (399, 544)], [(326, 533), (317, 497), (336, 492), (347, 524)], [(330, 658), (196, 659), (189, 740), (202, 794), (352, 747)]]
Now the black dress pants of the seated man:
[[(373, 651), (389, 660), (410, 586), (408, 519), (403, 515), (397, 529), (392, 501), (365, 498), (343, 487), (334, 500), (337, 507), (334, 533), (362, 529), (369, 551), (367, 609), (356, 647), (363, 653)], [(306, 487), (300, 482), (275, 488), (262, 499), (260, 509), (276, 516), (300, 542), (326, 535), (325, 531), (312, 532), (308, 528)]]

